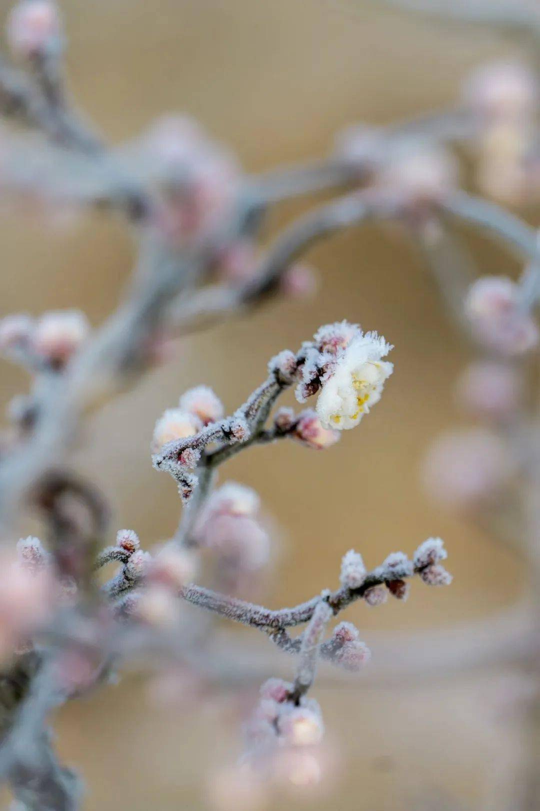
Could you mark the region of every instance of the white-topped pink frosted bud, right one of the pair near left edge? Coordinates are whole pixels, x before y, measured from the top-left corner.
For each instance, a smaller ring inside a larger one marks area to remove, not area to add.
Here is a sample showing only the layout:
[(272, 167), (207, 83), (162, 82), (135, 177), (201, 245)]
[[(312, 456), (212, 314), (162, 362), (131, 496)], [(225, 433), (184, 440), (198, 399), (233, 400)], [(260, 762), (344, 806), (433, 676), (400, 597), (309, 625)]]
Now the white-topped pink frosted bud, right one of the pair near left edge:
[(80, 310), (46, 312), (36, 321), (33, 348), (54, 366), (64, 366), (79, 350), (90, 332), (86, 315)]

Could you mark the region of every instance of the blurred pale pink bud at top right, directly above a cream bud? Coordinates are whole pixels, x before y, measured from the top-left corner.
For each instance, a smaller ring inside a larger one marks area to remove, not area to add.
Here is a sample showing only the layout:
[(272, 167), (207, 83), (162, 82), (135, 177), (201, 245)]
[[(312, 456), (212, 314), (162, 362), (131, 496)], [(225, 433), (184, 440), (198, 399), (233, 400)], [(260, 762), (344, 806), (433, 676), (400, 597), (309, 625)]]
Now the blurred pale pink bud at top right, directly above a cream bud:
[(537, 79), (534, 72), (521, 62), (483, 65), (470, 76), (465, 99), (483, 118), (529, 118), (538, 104)]

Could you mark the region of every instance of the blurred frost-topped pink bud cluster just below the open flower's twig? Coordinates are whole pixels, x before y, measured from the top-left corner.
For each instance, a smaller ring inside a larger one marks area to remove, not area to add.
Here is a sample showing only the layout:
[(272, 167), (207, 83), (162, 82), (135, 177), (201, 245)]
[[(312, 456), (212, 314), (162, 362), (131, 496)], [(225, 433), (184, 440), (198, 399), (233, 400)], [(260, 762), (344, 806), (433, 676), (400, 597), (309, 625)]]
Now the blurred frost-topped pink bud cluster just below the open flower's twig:
[(259, 513), (254, 490), (227, 482), (211, 494), (193, 530), (195, 543), (215, 555), (220, 580), (230, 591), (268, 562), (270, 539)]

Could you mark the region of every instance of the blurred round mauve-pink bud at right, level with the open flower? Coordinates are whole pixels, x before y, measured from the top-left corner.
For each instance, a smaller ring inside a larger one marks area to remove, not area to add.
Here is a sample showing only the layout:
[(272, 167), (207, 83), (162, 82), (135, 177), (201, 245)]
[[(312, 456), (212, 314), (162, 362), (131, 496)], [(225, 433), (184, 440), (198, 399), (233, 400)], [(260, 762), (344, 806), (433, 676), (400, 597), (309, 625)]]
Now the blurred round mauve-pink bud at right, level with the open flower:
[(517, 369), (506, 363), (470, 363), (458, 381), (457, 394), (473, 414), (498, 420), (516, 413), (523, 383)]

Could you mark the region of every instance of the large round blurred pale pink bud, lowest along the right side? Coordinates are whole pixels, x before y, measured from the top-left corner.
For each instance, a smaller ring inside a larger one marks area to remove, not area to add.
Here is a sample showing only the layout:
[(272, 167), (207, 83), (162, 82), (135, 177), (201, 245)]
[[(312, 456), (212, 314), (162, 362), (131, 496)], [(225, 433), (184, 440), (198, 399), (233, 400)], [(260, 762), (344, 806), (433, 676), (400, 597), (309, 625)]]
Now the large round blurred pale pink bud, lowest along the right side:
[(450, 507), (469, 507), (500, 491), (512, 472), (508, 448), (499, 437), (471, 428), (444, 434), (432, 444), (422, 479), (435, 500)]

